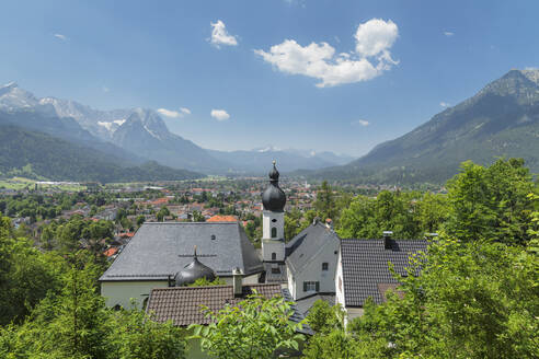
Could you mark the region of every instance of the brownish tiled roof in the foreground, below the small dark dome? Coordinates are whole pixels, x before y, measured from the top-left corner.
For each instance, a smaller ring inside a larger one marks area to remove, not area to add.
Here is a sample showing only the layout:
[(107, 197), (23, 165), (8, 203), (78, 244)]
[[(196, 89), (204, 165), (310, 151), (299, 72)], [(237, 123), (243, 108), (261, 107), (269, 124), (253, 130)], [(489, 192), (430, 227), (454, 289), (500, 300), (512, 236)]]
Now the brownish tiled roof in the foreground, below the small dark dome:
[[(238, 304), (246, 296), (252, 294), (253, 289), (266, 299), (283, 297), (286, 301), (291, 301), (290, 293), (287, 289), (282, 289), (280, 285), (243, 286), (243, 296), (239, 298), (234, 298), (232, 286), (154, 288), (150, 293), (146, 312), (160, 323), (172, 320), (177, 326), (209, 324), (211, 321), (204, 314), (202, 305), (217, 312), (226, 304)], [(305, 317), (297, 311), (295, 304), (293, 310), (290, 320), (296, 323), (301, 322)], [(309, 327), (305, 327), (302, 333), (312, 334)]]

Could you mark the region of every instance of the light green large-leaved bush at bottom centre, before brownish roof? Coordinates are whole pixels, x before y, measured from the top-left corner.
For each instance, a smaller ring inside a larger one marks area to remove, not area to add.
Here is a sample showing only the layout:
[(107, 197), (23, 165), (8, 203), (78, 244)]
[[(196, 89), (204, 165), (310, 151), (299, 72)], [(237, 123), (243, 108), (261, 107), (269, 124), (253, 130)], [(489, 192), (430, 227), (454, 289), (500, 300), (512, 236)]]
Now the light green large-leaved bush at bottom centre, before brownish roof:
[(300, 324), (290, 322), (293, 309), (283, 298), (265, 299), (256, 293), (218, 312), (205, 308), (211, 324), (191, 325), (207, 354), (220, 359), (274, 358), (276, 352), (297, 350)]

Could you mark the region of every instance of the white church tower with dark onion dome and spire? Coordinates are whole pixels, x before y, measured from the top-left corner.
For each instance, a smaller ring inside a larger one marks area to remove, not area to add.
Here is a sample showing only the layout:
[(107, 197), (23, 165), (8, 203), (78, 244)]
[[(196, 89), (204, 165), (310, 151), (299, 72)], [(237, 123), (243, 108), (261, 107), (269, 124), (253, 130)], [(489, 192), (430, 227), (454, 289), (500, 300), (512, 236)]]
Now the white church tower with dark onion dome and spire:
[(270, 185), (262, 194), (262, 257), (264, 262), (285, 260), (286, 195), (279, 188), (279, 172), (273, 161)]

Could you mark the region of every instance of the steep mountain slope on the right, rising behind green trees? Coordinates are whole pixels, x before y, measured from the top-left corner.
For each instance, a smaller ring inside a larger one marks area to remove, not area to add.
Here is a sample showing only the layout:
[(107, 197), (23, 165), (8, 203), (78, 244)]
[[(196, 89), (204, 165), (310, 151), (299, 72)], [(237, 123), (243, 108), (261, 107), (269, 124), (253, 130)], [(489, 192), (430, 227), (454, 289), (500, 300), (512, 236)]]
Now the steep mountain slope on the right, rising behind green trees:
[(474, 96), (344, 166), (309, 176), (357, 183), (444, 183), (466, 160), (524, 158), (539, 172), (539, 70), (512, 70)]

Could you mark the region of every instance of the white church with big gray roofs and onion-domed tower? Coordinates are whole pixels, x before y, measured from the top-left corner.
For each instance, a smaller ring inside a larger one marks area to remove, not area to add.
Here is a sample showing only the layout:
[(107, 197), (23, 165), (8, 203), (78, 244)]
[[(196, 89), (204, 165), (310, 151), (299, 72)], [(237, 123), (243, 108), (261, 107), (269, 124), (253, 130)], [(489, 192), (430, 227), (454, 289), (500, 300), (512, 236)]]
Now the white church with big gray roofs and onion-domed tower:
[(152, 289), (180, 286), (177, 278), (194, 259), (227, 285), (233, 283), (237, 270), (243, 285), (280, 285), (294, 300), (334, 296), (339, 238), (314, 222), (287, 243), (286, 195), (275, 161), (268, 176), (262, 194), (261, 253), (239, 222), (147, 222), (100, 278), (106, 304), (145, 308)]

